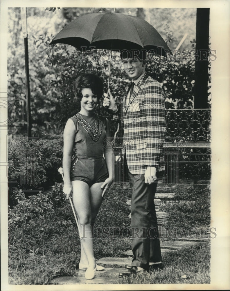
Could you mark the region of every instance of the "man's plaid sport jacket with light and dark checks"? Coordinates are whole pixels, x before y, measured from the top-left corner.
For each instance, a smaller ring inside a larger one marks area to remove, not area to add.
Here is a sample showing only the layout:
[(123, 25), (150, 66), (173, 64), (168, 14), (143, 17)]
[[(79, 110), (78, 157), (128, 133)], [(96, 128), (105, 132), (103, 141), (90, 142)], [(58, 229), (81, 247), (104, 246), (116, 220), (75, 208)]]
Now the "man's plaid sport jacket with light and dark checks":
[(134, 86), (126, 106), (129, 86), (113, 120), (124, 127), (123, 147), (129, 171), (144, 174), (147, 166), (164, 170), (163, 143), (166, 134), (164, 93), (161, 85), (146, 73)]

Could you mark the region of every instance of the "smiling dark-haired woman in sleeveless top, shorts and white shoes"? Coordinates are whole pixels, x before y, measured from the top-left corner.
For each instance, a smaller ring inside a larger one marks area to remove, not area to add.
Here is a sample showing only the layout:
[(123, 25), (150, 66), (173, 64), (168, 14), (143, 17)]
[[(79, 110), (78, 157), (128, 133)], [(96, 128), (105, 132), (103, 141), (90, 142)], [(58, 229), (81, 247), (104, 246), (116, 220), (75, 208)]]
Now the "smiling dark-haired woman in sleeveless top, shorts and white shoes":
[(103, 200), (103, 188), (105, 191), (113, 181), (113, 153), (106, 147), (111, 138), (108, 120), (96, 113), (103, 81), (94, 74), (78, 77), (74, 94), (81, 110), (67, 120), (64, 129), (63, 192), (67, 199), (72, 196), (83, 232), (79, 269), (86, 269), (85, 278), (93, 279), (96, 270), (104, 268), (97, 266), (94, 258), (92, 225)]

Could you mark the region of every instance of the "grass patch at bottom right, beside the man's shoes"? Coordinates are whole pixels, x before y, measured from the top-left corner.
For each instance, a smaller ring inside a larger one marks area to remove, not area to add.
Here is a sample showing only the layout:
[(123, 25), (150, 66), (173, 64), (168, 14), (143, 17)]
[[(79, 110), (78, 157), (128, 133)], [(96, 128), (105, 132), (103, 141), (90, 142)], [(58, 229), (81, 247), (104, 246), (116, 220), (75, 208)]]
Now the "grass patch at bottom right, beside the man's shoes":
[(209, 284), (210, 245), (170, 251), (163, 256), (164, 268), (124, 278), (121, 284)]

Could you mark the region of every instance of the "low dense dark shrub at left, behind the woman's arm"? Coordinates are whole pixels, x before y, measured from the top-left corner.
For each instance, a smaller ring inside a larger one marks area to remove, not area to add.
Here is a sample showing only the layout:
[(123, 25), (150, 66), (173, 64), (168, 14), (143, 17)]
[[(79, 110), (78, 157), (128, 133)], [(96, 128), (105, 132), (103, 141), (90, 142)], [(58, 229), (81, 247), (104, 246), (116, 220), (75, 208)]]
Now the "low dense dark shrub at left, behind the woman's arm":
[[(34, 194), (42, 187), (47, 189), (55, 182), (61, 182), (58, 168), (62, 165), (63, 141), (61, 137), (28, 140), (13, 139), (8, 145), (9, 204), (15, 205), (14, 188)], [(17, 182), (12, 182), (16, 180)], [(28, 195), (27, 195), (28, 196)]]

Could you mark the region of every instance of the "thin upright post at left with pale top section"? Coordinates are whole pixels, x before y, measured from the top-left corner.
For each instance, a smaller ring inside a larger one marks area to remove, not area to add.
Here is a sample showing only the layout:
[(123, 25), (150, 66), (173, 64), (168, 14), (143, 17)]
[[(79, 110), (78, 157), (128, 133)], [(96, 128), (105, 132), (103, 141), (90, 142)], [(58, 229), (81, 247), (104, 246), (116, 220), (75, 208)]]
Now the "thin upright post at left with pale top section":
[(30, 111), (30, 79), (29, 79), (29, 55), (28, 55), (28, 35), (27, 35), (27, 15), (26, 7), (21, 8), (22, 32), (25, 46), (26, 65), (26, 115), (27, 115), (27, 136), (31, 138), (31, 111)]

